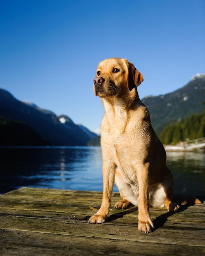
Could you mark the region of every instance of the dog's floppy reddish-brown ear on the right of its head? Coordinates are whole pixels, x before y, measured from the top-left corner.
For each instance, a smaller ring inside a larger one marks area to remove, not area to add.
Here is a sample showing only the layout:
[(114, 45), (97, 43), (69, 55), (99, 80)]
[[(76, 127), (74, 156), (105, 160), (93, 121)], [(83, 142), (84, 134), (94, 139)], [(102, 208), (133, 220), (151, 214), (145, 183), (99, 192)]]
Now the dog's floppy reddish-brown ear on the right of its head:
[(130, 92), (133, 88), (137, 87), (138, 85), (143, 82), (143, 75), (134, 67), (132, 63), (127, 61), (128, 66), (128, 88)]

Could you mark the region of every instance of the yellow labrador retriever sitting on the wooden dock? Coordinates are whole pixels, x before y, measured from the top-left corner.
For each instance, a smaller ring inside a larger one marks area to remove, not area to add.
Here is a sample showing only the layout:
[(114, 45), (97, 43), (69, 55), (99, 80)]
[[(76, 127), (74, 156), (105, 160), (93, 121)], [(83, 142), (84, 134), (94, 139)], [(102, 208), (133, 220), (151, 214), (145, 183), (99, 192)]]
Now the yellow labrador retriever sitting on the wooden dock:
[(101, 123), (103, 198), (89, 223), (105, 222), (115, 182), (122, 197), (115, 207), (138, 205), (138, 229), (149, 233), (154, 230), (149, 205), (165, 206), (169, 211), (177, 211), (179, 205), (172, 201), (173, 177), (164, 147), (138, 96), (142, 81), (142, 74), (127, 59), (108, 58), (97, 67), (94, 92), (105, 108)]

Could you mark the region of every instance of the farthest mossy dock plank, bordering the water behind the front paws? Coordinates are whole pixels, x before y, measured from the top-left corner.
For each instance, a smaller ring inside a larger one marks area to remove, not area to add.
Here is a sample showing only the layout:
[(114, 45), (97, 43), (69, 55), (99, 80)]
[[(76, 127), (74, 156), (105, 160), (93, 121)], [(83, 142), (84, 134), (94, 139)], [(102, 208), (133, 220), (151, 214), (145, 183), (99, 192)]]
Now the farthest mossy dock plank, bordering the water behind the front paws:
[[(68, 215), (77, 215), (82, 213), (81, 218), (86, 215), (94, 214), (89, 209), (89, 206), (96, 208), (100, 207), (101, 204), (101, 192), (93, 191), (65, 191), (62, 193), (60, 190), (55, 189), (33, 189), (22, 188), (17, 191), (12, 191), (5, 194), (4, 198), (0, 197), (0, 209), (18, 209), (18, 210), (39, 210), (39, 211), (53, 211), (55, 213), (67, 213)], [(29, 193), (32, 191), (32, 194)], [(83, 192), (83, 193), (82, 193)], [(137, 207), (132, 208), (133, 210), (119, 211), (114, 209), (115, 203), (120, 200), (119, 193), (113, 193), (112, 196), (112, 211), (110, 215), (112, 218), (116, 218), (117, 214), (123, 215), (123, 218), (136, 218)], [(197, 208), (198, 207), (198, 208)], [(192, 220), (195, 222), (205, 222), (204, 216), (201, 215), (205, 211), (205, 207), (182, 206), (181, 210), (177, 215), (169, 213), (165, 208), (150, 208), (150, 216), (154, 219), (168, 219), (175, 221)], [(197, 211), (198, 210), (198, 211)], [(129, 214), (127, 214), (128, 212)], [(194, 214), (193, 214), (194, 213)], [(116, 214), (114, 217), (113, 214)]]

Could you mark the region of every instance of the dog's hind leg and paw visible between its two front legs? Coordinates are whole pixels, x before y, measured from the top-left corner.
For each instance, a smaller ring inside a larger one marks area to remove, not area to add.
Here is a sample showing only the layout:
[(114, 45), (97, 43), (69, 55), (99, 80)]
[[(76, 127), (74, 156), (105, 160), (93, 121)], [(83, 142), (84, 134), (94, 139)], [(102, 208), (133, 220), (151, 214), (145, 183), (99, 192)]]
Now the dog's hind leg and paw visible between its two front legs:
[(115, 208), (126, 209), (130, 204), (138, 205), (138, 200), (136, 199), (130, 184), (124, 182), (118, 168), (115, 173), (115, 184), (117, 185), (121, 198), (123, 199), (115, 204)]

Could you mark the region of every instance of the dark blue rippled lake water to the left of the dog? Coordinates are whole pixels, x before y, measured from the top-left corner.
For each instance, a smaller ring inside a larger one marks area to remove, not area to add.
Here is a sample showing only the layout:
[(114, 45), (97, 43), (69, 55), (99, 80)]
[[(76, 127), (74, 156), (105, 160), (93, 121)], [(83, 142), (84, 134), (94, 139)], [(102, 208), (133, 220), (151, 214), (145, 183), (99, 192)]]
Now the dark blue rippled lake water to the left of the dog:
[(0, 148), (0, 156), (0, 193), (21, 186), (102, 189), (101, 148)]

